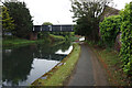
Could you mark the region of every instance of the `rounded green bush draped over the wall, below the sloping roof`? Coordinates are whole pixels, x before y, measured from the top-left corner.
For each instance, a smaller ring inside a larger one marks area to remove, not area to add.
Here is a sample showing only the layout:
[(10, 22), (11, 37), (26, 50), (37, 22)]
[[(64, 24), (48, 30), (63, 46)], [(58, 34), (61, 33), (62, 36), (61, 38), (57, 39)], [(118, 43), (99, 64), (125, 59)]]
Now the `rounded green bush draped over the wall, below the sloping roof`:
[(103, 43), (107, 46), (113, 46), (117, 34), (120, 32), (121, 25), (121, 15), (112, 15), (105, 18), (102, 22), (100, 22), (100, 34)]

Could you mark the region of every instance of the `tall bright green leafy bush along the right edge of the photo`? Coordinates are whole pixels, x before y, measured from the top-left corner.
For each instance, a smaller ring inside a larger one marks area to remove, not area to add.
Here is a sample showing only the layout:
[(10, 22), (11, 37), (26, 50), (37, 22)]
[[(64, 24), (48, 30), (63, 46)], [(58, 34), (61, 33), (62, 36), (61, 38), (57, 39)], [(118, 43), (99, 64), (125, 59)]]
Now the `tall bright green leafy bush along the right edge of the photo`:
[(120, 15), (122, 16), (120, 56), (123, 62), (124, 73), (132, 75), (132, 2), (120, 11)]

